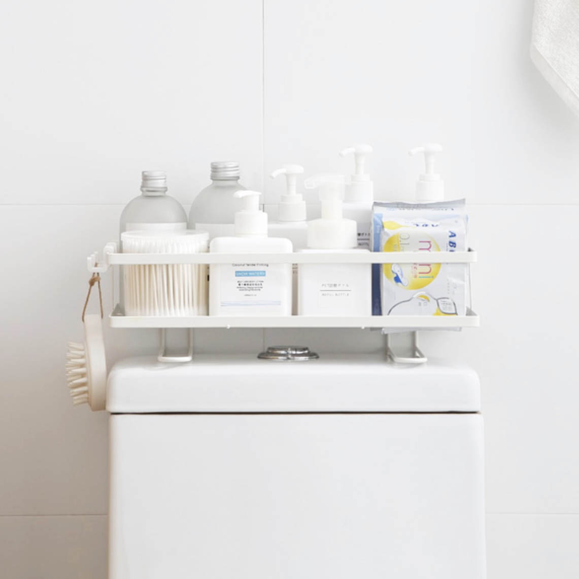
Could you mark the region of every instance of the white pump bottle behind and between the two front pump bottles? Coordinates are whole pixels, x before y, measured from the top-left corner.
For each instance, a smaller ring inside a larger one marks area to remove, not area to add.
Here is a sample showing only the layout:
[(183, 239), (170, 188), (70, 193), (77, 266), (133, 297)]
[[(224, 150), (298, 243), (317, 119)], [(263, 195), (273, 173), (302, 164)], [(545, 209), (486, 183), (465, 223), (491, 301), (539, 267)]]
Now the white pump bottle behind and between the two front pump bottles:
[[(297, 176), (303, 173), (304, 167), (301, 165), (284, 165), (270, 175), (272, 179), (278, 175), (285, 175), (287, 189), (278, 203), (278, 219), (270, 221), (268, 234), (270, 237), (286, 237), (292, 242), (294, 251), (305, 249), (308, 233), (304, 197), (297, 192)], [(294, 263), (292, 266), (294, 314), (297, 314), (297, 275), (297, 264)]]

